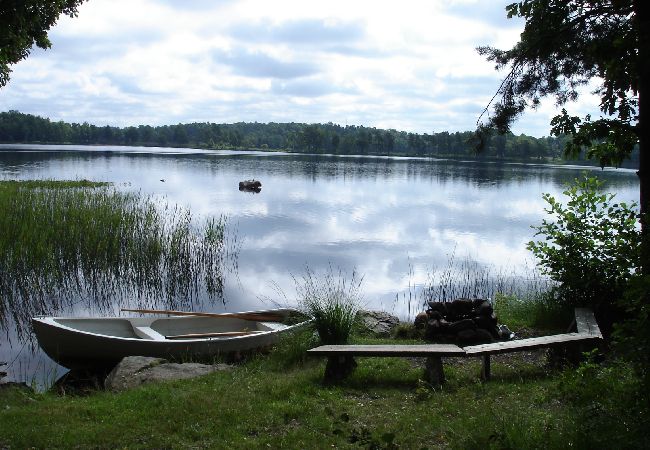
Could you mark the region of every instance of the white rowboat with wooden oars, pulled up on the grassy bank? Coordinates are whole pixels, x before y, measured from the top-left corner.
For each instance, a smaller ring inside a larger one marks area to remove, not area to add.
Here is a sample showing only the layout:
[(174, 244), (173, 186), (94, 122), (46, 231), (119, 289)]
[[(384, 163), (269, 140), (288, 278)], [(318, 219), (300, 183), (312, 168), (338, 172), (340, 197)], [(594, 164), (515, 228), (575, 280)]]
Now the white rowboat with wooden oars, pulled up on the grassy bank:
[(264, 348), (281, 334), (306, 325), (289, 325), (292, 309), (241, 313), (165, 314), (156, 317), (34, 317), (38, 343), (57, 363), (70, 369), (111, 367), (126, 356), (174, 361), (210, 360), (233, 352)]

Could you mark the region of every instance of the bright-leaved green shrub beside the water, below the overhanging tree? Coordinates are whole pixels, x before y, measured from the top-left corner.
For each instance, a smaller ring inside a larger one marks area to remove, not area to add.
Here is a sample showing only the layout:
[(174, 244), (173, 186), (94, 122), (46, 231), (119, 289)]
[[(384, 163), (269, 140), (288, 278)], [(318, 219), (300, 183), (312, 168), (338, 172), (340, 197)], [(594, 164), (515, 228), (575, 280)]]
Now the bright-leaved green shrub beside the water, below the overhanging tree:
[[(571, 306), (591, 306), (609, 314), (639, 267), (637, 204), (615, 201), (596, 178), (576, 179), (565, 191), (566, 206), (550, 194), (546, 212), (553, 219), (533, 227), (543, 240), (528, 249), (542, 273), (557, 282), (557, 298)], [(612, 317), (609, 317), (610, 319)]]

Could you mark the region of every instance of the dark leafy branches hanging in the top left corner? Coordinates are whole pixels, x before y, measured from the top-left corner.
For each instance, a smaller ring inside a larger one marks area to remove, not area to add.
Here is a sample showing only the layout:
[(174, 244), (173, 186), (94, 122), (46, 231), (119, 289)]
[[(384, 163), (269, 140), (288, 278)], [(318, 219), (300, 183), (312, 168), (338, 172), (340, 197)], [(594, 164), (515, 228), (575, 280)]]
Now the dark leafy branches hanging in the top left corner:
[(47, 32), (61, 14), (76, 17), (85, 0), (2, 0), (0, 3), (0, 87), (9, 81), (10, 65), (27, 58), (34, 44), (52, 46)]

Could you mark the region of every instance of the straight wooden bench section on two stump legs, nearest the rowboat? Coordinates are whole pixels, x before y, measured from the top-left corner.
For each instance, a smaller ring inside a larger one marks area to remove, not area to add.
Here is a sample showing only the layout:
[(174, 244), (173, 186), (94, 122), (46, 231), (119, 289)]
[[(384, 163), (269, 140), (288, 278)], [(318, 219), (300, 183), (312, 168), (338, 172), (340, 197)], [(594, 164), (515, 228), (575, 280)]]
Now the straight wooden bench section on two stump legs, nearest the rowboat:
[(425, 379), (431, 384), (445, 382), (443, 356), (465, 356), (465, 350), (453, 344), (418, 345), (323, 345), (307, 350), (311, 355), (327, 356), (325, 381), (344, 378), (354, 368), (354, 356), (426, 357)]

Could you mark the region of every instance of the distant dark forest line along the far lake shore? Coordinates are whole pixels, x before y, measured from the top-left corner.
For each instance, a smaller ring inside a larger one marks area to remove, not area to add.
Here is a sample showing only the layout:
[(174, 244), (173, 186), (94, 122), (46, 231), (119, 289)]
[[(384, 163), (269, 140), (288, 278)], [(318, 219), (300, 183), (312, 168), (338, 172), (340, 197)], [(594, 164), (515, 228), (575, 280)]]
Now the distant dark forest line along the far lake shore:
[[(565, 144), (564, 137), (535, 138), (509, 133), (492, 136), (485, 150), (477, 155), (473, 136), (472, 131), (419, 134), (356, 125), (294, 122), (113, 127), (54, 122), (18, 111), (0, 112), (0, 143), (143, 145), (525, 161), (559, 159)], [(583, 155), (578, 161), (585, 162)]]

